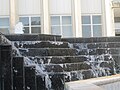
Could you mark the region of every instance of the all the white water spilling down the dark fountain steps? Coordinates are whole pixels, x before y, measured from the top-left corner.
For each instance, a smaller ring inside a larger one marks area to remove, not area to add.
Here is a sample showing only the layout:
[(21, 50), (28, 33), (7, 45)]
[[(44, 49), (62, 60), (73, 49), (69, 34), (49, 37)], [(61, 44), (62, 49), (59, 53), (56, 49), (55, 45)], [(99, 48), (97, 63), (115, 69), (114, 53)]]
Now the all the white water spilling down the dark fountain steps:
[[(58, 45), (58, 46), (63, 44), (63, 42), (57, 42), (57, 41), (49, 41), (49, 42), (51, 44)], [(21, 54), (22, 51), (29, 52), (27, 48), (24, 48), (24, 45), (35, 45), (37, 43), (41, 43), (41, 41), (34, 41), (34, 42), (33, 41), (15, 41), (15, 42), (11, 42), (8, 39), (6, 39), (3, 35), (1, 35), (1, 43), (11, 44), (12, 48), (13, 48), (13, 56), (20, 56), (21, 57), (21, 56), (23, 56)], [(84, 61), (83, 63), (90, 65), (91, 69), (78, 70), (78, 71), (76, 70), (76, 71), (70, 71), (70, 72), (63, 71), (62, 73), (65, 75), (65, 81), (72, 81), (72, 80), (74, 80), (73, 78), (77, 78), (75, 80), (84, 79), (85, 74), (83, 74), (83, 73), (88, 72), (88, 71), (92, 77), (101, 77), (101, 76), (108, 76), (108, 75), (116, 74), (115, 61), (109, 52), (109, 48), (106, 49), (105, 53), (103, 53), (101, 55), (97, 55), (97, 54), (90, 55), (89, 53), (95, 52), (95, 49), (89, 49), (87, 47), (87, 44), (83, 44), (83, 43), (70, 44), (70, 43), (68, 43), (68, 47), (76, 49), (77, 56), (86, 57), (87, 60)], [(81, 52), (83, 52), (84, 54), (81, 55)], [(110, 61), (105, 61), (105, 56), (107, 56)], [(58, 57), (58, 58), (61, 58), (61, 57)], [(50, 90), (52, 84), (51, 84), (50, 76), (45, 69), (45, 67), (46, 67), (46, 64), (44, 63), (45, 59), (47, 59), (47, 61), (48, 61), (46, 63), (47, 65), (52, 65), (51, 64), (52, 56), (50, 56), (49, 58), (48, 57), (43, 58), (43, 57), (37, 57), (37, 56), (35, 56), (35, 57), (24, 56), (24, 64), (26, 66), (34, 65), (36, 67), (36, 75), (40, 75), (43, 78), (43, 80), (45, 81), (46, 88), (48, 90)], [(112, 67), (109, 66), (110, 64), (112, 65)], [(68, 65), (68, 63), (59, 64), (59, 66), (61, 68), (67, 67), (67, 65)], [(61, 81), (64, 84), (64, 81), (62, 79), (61, 79)]]

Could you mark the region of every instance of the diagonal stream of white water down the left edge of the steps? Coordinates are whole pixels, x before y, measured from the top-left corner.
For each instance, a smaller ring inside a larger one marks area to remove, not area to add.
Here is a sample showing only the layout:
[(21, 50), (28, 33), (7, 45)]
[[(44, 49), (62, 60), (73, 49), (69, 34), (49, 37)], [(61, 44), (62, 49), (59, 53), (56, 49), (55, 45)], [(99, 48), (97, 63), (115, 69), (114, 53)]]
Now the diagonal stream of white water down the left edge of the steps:
[[(15, 43), (17, 43), (17, 42), (15, 42)], [(6, 37), (1, 35), (1, 44), (10, 44), (10, 45), (12, 45), (12, 54), (13, 54), (13, 56), (20, 56), (21, 57), (22, 55), (21, 55), (19, 49), (16, 48), (15, 43), (9, 41)], [(26, 42), (26, 43), (30, 44), (30, 42)], [(19, 45), (19, 44), (17, 44), (17, 45)], [(22, 47), (22, 45), (21, 45), (21, 47)], [(48, 73), (45, 71), (45, 66), (44, 66), (44, 64), (42, 62), (41, 62), (41, 65), (40, 65), (35, 60), (32, 60), (32, 59), (30, 59), (28, 57), (24, 57), (24, 64), (26, 66), (35, 66), (36, 67), (36, 74), (40, 75), (43, 78), (43, 80), (45, 80), (46, 88), (48, 90), (51, 88), (51, 80), (49, 78)]]

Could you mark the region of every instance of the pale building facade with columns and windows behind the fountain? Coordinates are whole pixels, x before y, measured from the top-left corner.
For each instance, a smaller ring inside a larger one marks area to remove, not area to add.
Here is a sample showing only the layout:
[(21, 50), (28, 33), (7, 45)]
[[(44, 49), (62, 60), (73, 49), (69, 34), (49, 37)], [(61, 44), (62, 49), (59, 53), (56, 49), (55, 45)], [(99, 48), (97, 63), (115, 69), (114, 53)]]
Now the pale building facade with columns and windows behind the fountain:
[(118, 7), (115, 7), (115, 2), (0, 0), (0, 32), (14, 34), (15, 25), (22, 22), (24, 33), (29, 34), (42, 33), (62, 37), (115, 36), (118, 33), (116, 30), (120, 28), (119, 25), (116, 27), (116, 22), (120, 23), (120, 15), (116, 15)]

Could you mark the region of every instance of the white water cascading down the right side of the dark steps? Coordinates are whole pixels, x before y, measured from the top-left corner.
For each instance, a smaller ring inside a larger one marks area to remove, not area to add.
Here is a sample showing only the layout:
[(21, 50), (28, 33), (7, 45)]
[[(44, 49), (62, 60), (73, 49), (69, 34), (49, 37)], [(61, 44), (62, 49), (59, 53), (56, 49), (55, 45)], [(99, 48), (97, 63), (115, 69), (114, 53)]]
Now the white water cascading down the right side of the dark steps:
[(105, 61), (104, 59), (105, 56), (108, 56), (108, 59), (111, 60), (111, 62), (113, 62), (113, 72), (114, 74), (116, 74), (115, 61), (113, 60), (112, 55), (109, 52), (109, 48), (106, 49), (105, 54), (90, 55), (89, 54), (90, 52), (92, 51), (95, 52), (95, 51), (94, 49), (89, 49), (86, 43), (73, 43), (70, 44), (69, 47), (76, 48), (78, 54), (80, 53), (80, 56), (82, 55), (81, 52), (83, 53), (83, 55), (87, 58), (87, 61), (91, 64), (91, 68), (92, 68), (91, 71), (95, 77), (111, 75), (110, 68), (100, 66), (103, 62), (110, 63), (110, 61)]

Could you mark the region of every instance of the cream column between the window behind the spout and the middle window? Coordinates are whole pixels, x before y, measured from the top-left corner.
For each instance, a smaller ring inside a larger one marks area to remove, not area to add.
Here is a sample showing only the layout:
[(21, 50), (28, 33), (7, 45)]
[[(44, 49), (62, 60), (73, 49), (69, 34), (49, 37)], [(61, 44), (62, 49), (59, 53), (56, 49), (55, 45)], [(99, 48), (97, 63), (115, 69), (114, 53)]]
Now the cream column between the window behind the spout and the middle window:
[(41, 22), (43, 34), (50, 34), (49, 0), (41, 0)]

